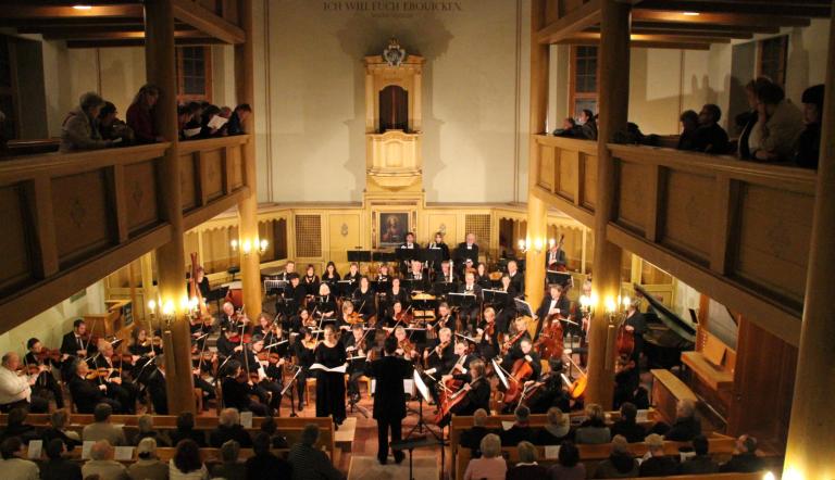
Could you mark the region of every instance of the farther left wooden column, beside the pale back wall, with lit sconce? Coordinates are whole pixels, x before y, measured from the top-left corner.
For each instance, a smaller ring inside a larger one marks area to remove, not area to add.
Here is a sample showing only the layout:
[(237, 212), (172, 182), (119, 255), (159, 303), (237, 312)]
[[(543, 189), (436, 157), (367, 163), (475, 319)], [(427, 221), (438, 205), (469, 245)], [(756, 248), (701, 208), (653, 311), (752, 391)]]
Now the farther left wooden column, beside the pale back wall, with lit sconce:
[[(252, 0), (240, 0), (238, 2), (238, 15), (240, 15), (240, 27), (246, 34), (244, 43), (235, 46), (235, 89), (238, 97), (238, 103), (249, 103), (252, 105), (256, 101), (254, 86), (254, 63), (252, 45)], [(254, 116), (258, 112), (252, 112), (247, 119), (246, 129), (248, 134), (254, 131)], [(247, 313), (254, 319), (261, 313), (261, 258), (258, 254), (258, 194), (256, 180), (256, 139), (254, 135), (250, 137), (249, 142), (244, 146), (244, 179), (249, 187), (249, 194), (238, 202), (238, 235), (240, 241), (250, 240), (254, 242), (253, 251), (246, 255), (240, 250), (240, 278), (244, 283), (244, 304)], [(271, 181), (267, 179), (267, 181)]]

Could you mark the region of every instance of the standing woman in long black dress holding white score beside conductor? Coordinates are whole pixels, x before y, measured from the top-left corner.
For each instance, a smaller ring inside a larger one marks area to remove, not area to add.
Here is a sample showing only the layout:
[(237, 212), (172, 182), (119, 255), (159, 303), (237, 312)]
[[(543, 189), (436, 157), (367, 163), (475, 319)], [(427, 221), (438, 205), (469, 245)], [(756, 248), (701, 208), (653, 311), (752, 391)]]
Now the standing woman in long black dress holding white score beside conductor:
[[(325, 340), (316, 346), (315, 363), (327, 368), (348, 362), (345, 344), (336, 338), (336, 329), (325, 327)], [(338, 426), (345, 421), (345, 374), (316, 370), (316, 417), (332, 415)]]

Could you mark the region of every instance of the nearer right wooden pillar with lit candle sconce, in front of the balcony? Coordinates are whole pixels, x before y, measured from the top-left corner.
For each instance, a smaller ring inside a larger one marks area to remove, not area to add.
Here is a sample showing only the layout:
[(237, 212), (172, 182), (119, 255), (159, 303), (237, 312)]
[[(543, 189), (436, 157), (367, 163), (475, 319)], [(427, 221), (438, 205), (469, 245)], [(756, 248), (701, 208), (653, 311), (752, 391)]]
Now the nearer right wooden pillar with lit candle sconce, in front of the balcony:
[[(600, 9), (600, 48), (598, 49), (598, 140), (597, 204), (595, 205), (595, 252), (593, 286), (599, 302), (616, 299), (621, 287), (621, 249), (606, 238), (612, 218), (615, 172), (607, 143), (614, 132), (626, 127), (630, 96), (630, 5), (603, 0)], [(605, 68), (602, 66), (605, 65)], [(602, 303), (595, 307), (588, 332), (588, 389), (586, 402), (609, 409), (614, 391), (614, 345), (605, 319)]]

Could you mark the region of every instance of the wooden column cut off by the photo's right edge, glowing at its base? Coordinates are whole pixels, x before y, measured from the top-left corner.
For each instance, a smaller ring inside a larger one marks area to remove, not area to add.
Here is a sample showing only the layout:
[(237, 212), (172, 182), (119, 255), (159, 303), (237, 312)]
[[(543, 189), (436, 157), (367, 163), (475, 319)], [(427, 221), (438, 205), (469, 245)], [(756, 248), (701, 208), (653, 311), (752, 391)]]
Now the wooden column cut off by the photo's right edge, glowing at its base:
[[(835, 8), (835, 2), (833, 2)], [(814, 198), (806, 301), (783, 478), (835, 478), (835, 17), (830, 23), (821, 157)]]

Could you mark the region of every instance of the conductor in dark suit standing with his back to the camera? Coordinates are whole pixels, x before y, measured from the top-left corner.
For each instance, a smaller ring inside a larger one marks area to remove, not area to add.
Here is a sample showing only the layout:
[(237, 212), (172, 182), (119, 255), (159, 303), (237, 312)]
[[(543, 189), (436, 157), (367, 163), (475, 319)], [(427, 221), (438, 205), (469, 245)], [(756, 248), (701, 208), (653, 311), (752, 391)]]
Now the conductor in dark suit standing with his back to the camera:
[[(377, 459), (381, 465), (388, 462), (388, 432), (391, 431), (391, 442), (400, 441), (401, 424), (406, 418), (406, 392), (403, 379), (412, 375), (412, 365), (403, 358), (395, 356), (397, 339), (386, 339), (385, 356), (372, 362), (369, 374), (376, 379), (374, 392), (374, 419), (377, 420)], [(406, 455), (395, 451), (395, 462), (403, 462)]]

